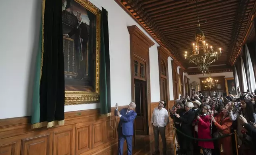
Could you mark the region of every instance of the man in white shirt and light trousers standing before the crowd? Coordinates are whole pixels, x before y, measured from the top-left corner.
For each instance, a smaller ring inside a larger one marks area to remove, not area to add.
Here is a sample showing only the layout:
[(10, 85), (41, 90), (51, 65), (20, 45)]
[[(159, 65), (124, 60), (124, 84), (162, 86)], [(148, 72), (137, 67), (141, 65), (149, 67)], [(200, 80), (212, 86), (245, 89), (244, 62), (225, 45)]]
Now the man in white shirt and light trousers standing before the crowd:
[(159, 133), (163, 142), (163, 155), (166, 155), (166, 138), (165, 127), (169, 123), (168, 111), (163, 108), (166, 105), (165, 101), (160, 101), (157, 108), (154, 108), (151, 124), (153, 125), (154, 138), (155, 138), (155, 152), (153, 155), (159, 154)]

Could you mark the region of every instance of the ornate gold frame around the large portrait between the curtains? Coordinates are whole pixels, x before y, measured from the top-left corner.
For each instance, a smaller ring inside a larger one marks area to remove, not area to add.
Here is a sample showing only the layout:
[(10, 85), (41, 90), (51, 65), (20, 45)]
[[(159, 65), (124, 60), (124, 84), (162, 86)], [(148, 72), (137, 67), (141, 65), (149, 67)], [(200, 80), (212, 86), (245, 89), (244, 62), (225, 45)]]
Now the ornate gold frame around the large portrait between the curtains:
[[(77, 105), (77, 104), (89, 104), (89, 103), (97, 103), (99, 102), (99, 95), (100, 95), (100, 88), (99, 88), (99, 70), (100, 70), (100, 57), (99, 57), (99, 50), (100, 50), (100, 21), (101, 21), (101, 14), (100, 10), (94, 6), (88, 0), (74, 0), (74, 3), (80, 4), (83, 8), (87, 11), (90, 11), (96, 16), (96, 45), (95, 45), (95, 84), (93, 91), (66, 91), (66, 84), (65, 84), (65, 105)], [(62, 4), (63, 5), (63, 4)], [(63, 6), (62, 6), (63, 7)], [(64, 6), (65, 7), (65, 6)], [(81, 8), (80, 8), (81, 9)], [(80, 30), (81, 31), (81, 30)], [(81, 32), (80, 32), (81, 33)], [(89, 35), (88, 35), (89, 36)], [(69, 38), (69, 40), (72, 40)], [(73, 40), (74, 42), (74, 40)], [(87, 43), (88, 48), (88, 43)], [(74, 57), (74, 55), (73, 55)], [(93, 55), (94, 57), (94, 55)], [(88, 51), (87, 51), (87, 60), (88, 60)], [(87, 62), (88, 64), (88, 62)], [(88, 69), (88, 68), (87, 68)], [(74, 70), (74, 67), (73, 67)], [(66, 76), (66, 75), (65, 75)]]

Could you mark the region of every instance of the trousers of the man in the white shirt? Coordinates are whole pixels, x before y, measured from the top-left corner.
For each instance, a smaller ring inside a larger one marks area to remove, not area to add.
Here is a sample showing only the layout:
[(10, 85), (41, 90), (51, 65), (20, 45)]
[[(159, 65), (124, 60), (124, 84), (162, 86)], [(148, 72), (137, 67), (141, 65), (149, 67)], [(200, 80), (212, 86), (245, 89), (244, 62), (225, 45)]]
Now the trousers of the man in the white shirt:
[(165, 127), (155, 127), (153, 125), (154, 138), (155, 138), (155, 151), (159, 151), (159, 133), (163, 142), (163, 154), (166, 154), (166, 137), (165, 137)]

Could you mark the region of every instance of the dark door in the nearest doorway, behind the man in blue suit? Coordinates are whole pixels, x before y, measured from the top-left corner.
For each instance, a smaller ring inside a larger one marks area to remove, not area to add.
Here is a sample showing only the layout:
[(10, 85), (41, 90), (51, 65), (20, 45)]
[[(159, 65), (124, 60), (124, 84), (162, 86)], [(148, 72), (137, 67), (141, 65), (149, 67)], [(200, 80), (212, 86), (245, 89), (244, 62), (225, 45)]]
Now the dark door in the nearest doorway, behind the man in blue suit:
[(134, 79), (134, 95), (136, 103), (135, 130), (138, 135), (147, 135), (147, 90), (146, 81)]

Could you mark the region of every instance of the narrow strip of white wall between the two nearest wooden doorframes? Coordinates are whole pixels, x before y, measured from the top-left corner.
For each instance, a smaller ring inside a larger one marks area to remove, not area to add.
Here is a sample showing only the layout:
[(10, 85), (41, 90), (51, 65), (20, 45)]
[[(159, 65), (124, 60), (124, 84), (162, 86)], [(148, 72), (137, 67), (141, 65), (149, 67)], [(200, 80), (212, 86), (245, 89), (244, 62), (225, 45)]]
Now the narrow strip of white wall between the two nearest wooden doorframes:
[[(151, 102), (160, 101), (159, 64), (157, 45), (149, 48)], [(158, 81), (158, 82), (157, 82)]]

